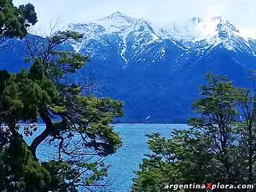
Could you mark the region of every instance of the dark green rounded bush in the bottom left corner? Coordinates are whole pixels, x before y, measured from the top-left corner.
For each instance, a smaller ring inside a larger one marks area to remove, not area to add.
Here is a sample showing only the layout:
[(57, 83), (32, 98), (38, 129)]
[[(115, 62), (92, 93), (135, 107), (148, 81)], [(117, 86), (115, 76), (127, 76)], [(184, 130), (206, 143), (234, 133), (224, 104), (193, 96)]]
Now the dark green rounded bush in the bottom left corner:
[(1, 191), (4, 188), (9, 191), (39, 191), (50, 182), (48, 171), (34, 159), (22, 138), (10, 142), (0, 161), (4, 165), (1, 166)]

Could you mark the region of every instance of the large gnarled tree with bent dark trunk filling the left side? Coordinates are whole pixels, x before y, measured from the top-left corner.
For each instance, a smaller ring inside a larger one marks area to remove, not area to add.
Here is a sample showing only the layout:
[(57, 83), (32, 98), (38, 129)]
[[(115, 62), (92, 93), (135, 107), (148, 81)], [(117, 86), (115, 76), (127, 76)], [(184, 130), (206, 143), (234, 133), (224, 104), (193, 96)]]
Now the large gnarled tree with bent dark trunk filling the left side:
[[(3, 4), (12, 5), (11, 1)], [(23, 14), (25, 27), (36, 21), (31, 5), (14, 10), (18, 16)], [(15, 36), (25, 34), (20, 29)], [(57, 31), (34, 42), (34, 36), (28, 35), (24, 41), (29, 71), (0, 72), (1, 191), (77, 191), (80, 187), (93, 191), (106, 185), (104, 157), (121, 146), (110, 123), (122, 115), (122, 103), (85, 95), (91, 85), (72, 81), (88, 58), (65, 45), (81, 37), (73, 31)], [(43, 130), (38, 120), (45, 123)], [(35, 134), (31, 145), (24, 134)], [(56, 146), (58, 155), (39, 162), (37, 148), (42, 142)]]

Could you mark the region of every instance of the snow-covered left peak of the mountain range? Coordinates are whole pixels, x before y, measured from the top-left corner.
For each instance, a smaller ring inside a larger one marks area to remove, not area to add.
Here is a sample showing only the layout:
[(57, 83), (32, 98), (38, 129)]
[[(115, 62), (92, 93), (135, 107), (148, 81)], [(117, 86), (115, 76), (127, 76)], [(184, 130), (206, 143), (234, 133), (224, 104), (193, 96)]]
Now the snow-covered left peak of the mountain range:
[[(83, 51), (87, 47), (86, 53), (91, 57), (97, 52), (94, 47), (89, 46), (92, 41), (98, 41), (101, 46), (116, 47), (121, 58), (128, 63), (127, 52), (132, 49), (132, 55), (138, 55), (143, 48), (160, 40), (160, 37), (154, 32), (149, 23), (143, 19), (130, 18), (120, 12), (95, 20), (91, 23), (72, 24), (69, 30), (78, 31), (83, 34), (83, 41), (74, 42), (73, 47), (76, 51)], [(132, 41), (132, 45), (130, 44)]]

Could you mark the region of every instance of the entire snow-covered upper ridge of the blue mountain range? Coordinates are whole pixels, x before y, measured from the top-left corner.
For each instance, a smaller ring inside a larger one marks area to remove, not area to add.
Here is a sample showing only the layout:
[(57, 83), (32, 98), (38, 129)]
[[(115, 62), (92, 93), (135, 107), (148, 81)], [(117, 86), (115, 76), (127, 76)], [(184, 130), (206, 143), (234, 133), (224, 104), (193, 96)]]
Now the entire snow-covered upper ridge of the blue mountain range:
[[(117, 36), (116, 38), (121, 40), (118, 41), (118, 52), (124, 61), (128, 60), (125, 53), (127, 52), (127, 42), (131, 36), (135, 39), (134, 45), (132, 45), (135, 52), (138, 52), (136, 47), (140, 47), (140, 51), (145, 51), (144, 48), (147, 45), (169, 39), (181, 48), (190, 51), (194, 51), (192, 49), (212, 50), (214, 47), (222, 46), (227, 50), (246, 50), (255, 54), (253, 47), (255, 41), (240, 33), (236, 26), (221, 17), (192, 18), (185, 23), (156, 23), (115, 12), (106, 18), (90, 23), (69, 25), (69, 29), (84, 34), (83, 42), (74, 45), (77, 51), (88, 47), (87, 45), (92, 39), (104, 40), (106, 35)], [(102, 42), (102, 45), (107, 44)], [(88, 48), (90, 49), (90, 47)], [(161, 51), (164, 54), (165, 51)], [(89, 53), (94, 54), (93, 52), (91, 50)]]

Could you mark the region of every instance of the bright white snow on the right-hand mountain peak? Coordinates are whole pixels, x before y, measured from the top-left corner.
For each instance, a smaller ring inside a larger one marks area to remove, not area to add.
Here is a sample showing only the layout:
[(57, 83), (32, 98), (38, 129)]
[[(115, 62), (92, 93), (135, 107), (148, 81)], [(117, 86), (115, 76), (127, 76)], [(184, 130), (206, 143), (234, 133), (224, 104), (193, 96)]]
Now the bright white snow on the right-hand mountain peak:
[(158, 26), (156, 31), (162, 39), (176, 39), (188, 47), (195, 47), (201, 42), (202, 49), (213, 49), (223, 44), (227, 50), (235, 50), (234, 40), (242, 38), (248, 44), (249, 39), (236, 26), (221, 17), (192, 18), (186, 23), (157, 23), (155, 26)]

